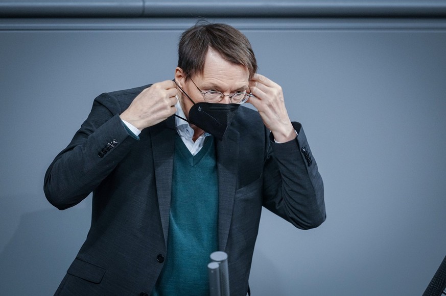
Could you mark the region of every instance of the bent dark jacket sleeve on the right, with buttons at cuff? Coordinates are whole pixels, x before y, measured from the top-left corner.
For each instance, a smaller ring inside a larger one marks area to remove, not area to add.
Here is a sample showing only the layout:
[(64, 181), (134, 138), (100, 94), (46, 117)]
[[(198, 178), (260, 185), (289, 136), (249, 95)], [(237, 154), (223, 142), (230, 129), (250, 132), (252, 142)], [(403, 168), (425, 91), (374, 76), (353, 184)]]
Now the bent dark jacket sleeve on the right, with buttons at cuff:
[(294, 226), (311, 229), (326, 218), (323, 182), (303, 128), (293, 126), (295, 140), (267, 141), (263, 205)]

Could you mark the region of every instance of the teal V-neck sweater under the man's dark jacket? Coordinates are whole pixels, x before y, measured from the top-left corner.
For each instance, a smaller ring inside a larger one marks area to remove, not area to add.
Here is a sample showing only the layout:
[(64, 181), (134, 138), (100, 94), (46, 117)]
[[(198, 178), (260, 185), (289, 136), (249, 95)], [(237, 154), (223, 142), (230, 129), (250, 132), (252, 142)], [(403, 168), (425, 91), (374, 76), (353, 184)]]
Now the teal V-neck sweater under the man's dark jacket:
[(153, 296), (209, 295), (209, 254), (218, 250), (214, 137), (193, 156), (177, 136), (165, 266)]

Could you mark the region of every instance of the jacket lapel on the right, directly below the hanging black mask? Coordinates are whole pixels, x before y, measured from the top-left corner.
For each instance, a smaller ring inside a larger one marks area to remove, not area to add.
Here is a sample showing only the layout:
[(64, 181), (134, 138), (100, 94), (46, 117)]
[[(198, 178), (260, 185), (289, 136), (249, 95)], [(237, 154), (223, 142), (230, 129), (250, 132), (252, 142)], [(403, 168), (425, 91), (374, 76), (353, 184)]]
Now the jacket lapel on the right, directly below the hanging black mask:
[(222, 141), (216, 140), (219, 188), (218, 239), (221, 251), (226, 248), (236, 195), (239, 132), (229, 128)]

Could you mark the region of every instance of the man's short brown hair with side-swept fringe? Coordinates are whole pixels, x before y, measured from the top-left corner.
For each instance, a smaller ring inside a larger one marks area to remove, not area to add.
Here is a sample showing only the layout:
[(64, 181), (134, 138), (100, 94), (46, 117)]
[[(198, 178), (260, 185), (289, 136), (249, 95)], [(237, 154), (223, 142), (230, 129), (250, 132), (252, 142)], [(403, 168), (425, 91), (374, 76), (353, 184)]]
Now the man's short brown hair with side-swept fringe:
[(181, 34), (178, 43), (178, 67), (186, 79), (203, 73), (209, 48), (220, 53), (226, 61), (247, 67), (249, 78), (257, 71), (251, 44), (242, 32), (228, 24), (199, 20)]

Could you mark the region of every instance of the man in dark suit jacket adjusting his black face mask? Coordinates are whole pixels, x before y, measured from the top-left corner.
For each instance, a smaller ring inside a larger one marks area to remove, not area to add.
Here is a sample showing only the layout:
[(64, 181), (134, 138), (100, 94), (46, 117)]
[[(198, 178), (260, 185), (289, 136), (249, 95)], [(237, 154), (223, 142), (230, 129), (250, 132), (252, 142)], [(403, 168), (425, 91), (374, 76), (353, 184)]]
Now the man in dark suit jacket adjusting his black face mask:
[(49, 167), (57, 208), (93, 192), (90, 231), (56, 294), (207, 295), (208, 255), (221, 250), (230, 294), (246, 295), (262, 206), (301, 229), (325, 220), (303, 129), (256, 74), (246, 37), (197, 23), (178, 52), (173, 81), (97, 97)]

